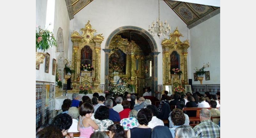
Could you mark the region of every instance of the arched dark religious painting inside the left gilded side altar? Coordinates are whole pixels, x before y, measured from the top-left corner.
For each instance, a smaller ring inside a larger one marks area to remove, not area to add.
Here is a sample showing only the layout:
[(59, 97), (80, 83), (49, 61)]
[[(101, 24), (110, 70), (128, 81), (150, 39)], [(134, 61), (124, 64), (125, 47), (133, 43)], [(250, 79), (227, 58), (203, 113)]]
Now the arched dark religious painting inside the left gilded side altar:
[[(92, 49), (89, 46), (84, 46), (81, 50), (81, 65), (83, 66), (92, 66)], [(84, 71), (84, 68), (81, 68)]]

